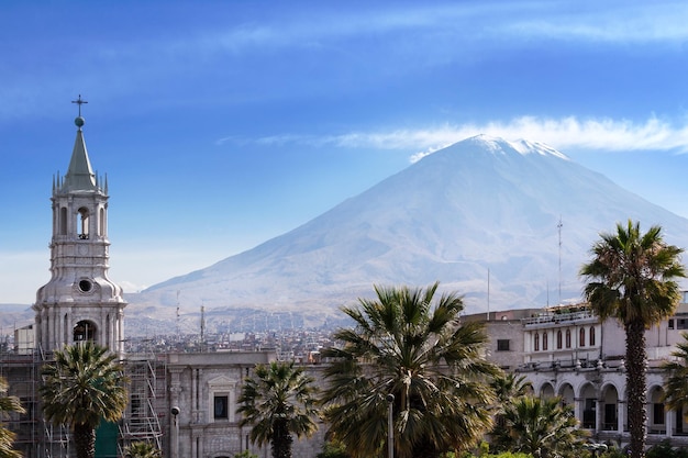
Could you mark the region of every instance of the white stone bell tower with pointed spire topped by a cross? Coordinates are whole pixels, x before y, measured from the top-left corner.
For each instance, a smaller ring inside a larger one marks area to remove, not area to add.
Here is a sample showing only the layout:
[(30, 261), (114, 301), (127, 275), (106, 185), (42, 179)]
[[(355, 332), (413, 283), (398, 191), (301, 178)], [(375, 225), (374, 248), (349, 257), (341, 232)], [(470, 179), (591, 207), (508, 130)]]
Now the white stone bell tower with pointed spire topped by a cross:
[(51, 280), (36, 293), (36, 344), (52, 351), (91, 340), (123, 354), (122, 289), (108, 278), (108, 180), (91, 169), (79, 99), (77, 138), (64, 177), (53, 179)]

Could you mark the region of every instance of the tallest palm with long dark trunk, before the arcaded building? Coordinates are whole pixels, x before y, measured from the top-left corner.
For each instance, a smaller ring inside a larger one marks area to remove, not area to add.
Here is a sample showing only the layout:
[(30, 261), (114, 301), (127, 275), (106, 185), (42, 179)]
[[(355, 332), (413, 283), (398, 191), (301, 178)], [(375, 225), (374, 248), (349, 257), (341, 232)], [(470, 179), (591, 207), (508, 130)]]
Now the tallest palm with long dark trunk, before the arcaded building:
[(668, 245), (662, 227), (641, 233), (640, 223), (617, 224), (592, 246), (592, 260), (580, 275), (588, 283), (585, 297), (601, 320), (617, 319), (626, 338), (626, 398), (631, 458), (645, 449), (645, 329), (674, 314), (680, 301), (676, 279), (686, 277), (681, 248)]

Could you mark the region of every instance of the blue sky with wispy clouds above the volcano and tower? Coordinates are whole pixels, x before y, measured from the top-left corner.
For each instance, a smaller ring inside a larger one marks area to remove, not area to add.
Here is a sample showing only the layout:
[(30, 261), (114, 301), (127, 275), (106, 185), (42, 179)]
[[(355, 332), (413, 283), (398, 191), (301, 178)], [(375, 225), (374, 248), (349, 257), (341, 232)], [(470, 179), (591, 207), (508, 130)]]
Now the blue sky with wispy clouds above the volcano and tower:
[(688, 216), (687, 22), (685, 1), (3, 2), (0, 303), (49, 279), (78, 94), (129, 291), (479, 133)]

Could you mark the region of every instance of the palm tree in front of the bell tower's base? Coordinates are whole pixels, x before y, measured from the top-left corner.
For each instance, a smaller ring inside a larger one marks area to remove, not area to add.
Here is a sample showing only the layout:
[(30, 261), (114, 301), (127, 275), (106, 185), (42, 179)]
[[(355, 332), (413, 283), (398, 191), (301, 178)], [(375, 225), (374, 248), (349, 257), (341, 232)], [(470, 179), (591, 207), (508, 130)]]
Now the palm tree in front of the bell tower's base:
[(43, 367), (45, 418), (70, 427), (77, 458), (93, 458), (100, 421), (116, 422), (126, 409), (129, 380), (123, 370), (115, 354), (92, 342), (65, 346)]

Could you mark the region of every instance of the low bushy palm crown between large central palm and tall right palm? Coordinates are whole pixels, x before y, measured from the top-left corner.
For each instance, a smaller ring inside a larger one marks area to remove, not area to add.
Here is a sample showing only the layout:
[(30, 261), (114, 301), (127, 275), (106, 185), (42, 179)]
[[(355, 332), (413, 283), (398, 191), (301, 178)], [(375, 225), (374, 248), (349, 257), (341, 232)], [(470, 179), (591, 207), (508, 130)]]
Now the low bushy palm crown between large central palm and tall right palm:
[(535, 458), (579, 456), (588, 435), (561, 398), (518, 398), (506, 406), (503, 420), (504, 426), (495, 431), (495, 448)]

